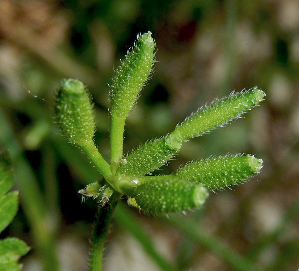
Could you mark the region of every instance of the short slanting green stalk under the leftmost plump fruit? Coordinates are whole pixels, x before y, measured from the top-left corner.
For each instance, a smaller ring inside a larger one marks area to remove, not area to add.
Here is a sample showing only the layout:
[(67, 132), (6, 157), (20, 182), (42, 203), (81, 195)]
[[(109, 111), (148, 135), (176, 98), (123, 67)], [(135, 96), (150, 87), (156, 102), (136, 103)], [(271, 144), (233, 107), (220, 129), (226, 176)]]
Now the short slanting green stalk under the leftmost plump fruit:
[(90, 159), (92, 164), (94, 164), (94, 166), (100, 171), (100, 173), (105, 178), (109, 178), (109, 176), (111, 175), (110, 166), (98, 152), (97, 147), (94, 146), (93, 141), (86, 141), (86, 143), (84, 145), (81, 145), (80, 148)]

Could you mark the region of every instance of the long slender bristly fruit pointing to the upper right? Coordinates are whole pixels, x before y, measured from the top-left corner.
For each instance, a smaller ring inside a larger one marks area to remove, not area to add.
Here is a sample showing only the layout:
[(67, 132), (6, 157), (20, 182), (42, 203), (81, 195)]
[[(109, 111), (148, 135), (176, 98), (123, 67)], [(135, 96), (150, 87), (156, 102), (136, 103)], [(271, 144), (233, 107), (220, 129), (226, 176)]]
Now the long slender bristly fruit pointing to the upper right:
[(262, 90), (253, 88), (216, 99), (209, 106), (200, 108), (196, 113), (187, 117), (170, 135), (186, 141), (209, 133), (216, 127), (236, 120), (243, 113), (257, 106), (265, 95)]

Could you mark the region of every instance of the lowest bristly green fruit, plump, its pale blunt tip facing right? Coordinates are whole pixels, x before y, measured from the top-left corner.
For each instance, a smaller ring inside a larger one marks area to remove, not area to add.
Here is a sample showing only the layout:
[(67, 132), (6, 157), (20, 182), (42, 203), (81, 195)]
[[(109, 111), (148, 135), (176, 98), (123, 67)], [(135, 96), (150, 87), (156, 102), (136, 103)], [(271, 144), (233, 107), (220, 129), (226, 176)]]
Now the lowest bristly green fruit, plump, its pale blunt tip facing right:
[(144, 177), (132, 195), (146, 213), (172, 213), (204, 204), (207, 190), (201, 184), (186, 182), (174, 175)]

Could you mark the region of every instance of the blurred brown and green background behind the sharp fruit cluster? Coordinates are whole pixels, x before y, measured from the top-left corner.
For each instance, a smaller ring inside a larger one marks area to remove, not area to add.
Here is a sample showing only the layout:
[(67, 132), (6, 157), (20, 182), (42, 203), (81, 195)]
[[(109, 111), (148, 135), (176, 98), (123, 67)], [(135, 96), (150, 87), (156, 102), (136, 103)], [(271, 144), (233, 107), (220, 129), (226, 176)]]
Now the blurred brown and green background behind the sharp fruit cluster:
[[(122, 205), (104, 270), (167, 270), (155, 253), (176, 270), (297, 270), (297, 0), (1, 0), (0, 147), (13, 158), (20, 210), (0, 237), (17, 236), (31, 247), (25, 271), (86, 270), (96, 203), (82, 204), (77, 191), (100, 176), (59, 135), (53, 91), (67, 77), (89, 86), (95, 143), (109, 160), (107, 82), (136, 34), (148, 30), (158, 62), (126, 122), (124, 153), (171, 132), (215, 97), (258, 85), (267, 94), (260, 107), (184, 143), (163, 173), (226, 153), (256, 153), (264, 167), (173, 220)], [(155, 252), (142, 248), (149, 244)]]

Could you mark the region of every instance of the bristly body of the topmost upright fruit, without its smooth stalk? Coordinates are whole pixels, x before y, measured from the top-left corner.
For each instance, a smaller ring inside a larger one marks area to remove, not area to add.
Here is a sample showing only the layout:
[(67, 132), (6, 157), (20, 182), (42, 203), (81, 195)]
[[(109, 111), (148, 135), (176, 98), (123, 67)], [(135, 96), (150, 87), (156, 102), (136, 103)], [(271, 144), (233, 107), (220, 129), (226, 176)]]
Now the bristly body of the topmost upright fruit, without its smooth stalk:
[(141, 89), (146, 84), (154, 64), (155, 41), (148, 31), (137, 36), (137, 41), (112, 77), (109, 100), (110, 113), (126, 118), (131, 112)]

